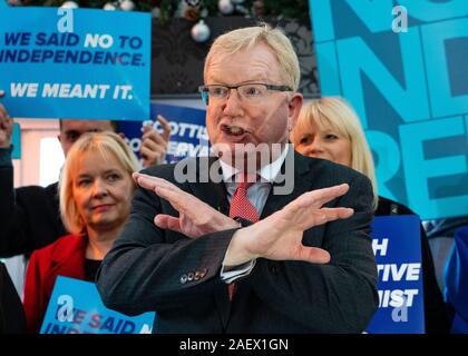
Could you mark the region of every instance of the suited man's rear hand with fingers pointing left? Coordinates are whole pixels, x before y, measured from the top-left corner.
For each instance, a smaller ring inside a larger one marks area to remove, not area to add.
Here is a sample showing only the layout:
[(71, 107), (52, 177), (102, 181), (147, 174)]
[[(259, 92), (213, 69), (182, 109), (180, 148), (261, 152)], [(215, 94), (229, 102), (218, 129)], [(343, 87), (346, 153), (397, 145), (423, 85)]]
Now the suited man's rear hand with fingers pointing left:
[(162, 229), (197, 238), (206, 234), (238, 227), (238, 222), (235, 220), (165, 179), (138, 172), (135, 172), (133, 177), (142, 188), (153, 190), (169, 201), (178, 211), (178, 218), (165, 214), (156, 215), (155, 225)]

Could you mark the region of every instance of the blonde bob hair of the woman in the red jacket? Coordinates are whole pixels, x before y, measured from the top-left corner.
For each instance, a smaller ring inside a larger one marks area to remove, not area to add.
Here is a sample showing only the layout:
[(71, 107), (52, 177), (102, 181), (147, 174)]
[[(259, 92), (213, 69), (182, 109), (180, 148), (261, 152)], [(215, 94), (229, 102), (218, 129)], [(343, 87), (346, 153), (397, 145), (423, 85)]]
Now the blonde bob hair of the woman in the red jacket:
[(98, 155), (103, 161), (113, 155), (130, 177), (139, 170), (134, 152), (117, 134), (105, 131), (82, 135), (68, 151), (59, 181), (61, 219), (68, 231), (75, 235), (86, 235), (85, 220), (74, 199), (74, 172), (85, 155)]

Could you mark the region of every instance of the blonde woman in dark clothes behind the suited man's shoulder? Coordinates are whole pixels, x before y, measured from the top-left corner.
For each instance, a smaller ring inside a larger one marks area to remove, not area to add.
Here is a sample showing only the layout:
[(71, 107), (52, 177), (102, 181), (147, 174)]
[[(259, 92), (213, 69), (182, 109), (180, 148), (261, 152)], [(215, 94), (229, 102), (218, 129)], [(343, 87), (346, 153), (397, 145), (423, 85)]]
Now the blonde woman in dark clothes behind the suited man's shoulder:
[[(415, 215), (406, 206), (378, 196), (371, 150), (358, 116), (343, 99), (324, 97), (305, 103), (291, 132), (291, 142), (304, 156), (328, 159), (368, 176), (376, 197), (376, 216)], [(421, 255), (426, 333), (447, 333), (447, 310), (422, 226)]]

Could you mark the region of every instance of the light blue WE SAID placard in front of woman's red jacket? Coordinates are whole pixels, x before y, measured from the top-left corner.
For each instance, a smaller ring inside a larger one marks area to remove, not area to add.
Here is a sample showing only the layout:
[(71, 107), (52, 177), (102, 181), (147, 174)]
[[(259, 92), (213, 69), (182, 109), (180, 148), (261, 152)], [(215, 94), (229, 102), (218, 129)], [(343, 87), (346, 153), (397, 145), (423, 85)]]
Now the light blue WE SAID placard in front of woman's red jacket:
[(94, 283), (58, 276), (40, 334), (150, 334), (155, 317), (108, 309)]

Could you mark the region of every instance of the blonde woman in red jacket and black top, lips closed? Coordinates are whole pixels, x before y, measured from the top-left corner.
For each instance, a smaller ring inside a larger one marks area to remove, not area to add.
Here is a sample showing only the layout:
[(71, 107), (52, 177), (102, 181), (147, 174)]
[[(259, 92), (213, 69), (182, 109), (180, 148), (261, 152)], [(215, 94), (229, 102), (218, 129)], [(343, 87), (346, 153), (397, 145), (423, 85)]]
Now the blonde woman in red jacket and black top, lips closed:
[(40, 330), (57, 276), (88, 281), (120, 233), (130, 211), (138, 161), (116, 134), (86, 134), (62, 168), (60, 214), (70, 235), (32, 253), (25, 283), (29, 333)]

